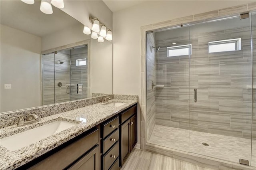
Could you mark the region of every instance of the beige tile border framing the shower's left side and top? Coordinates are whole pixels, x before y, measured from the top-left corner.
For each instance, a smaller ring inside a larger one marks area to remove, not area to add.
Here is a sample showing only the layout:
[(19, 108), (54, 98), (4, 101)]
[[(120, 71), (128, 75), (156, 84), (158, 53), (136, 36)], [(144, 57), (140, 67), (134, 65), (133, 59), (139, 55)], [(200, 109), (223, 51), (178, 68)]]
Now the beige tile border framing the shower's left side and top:
[[(146, 81), (146, 32), (153, 30), (153, 29), (162, 29), (168, 26), (172, 26), (175, 24), (184, 24), (184, 20), (186, 19), (186, 22), (194, 22), (196, 20), (207, 20), (212, 17), (220, 17), (224, 15), (229, 15), (232, 16), (234, 14), (239, 14), (241, 12), (246, 12), (248, 10), (256, 10), (256, 3), (252, 2), (249, 4), (243, 4), (240, 6), (234, 6), (230, 8), (224, 8), (218, 10), (218, 15), (216, 10), (210, 11), (210, 12), (205, 12), (202, 14), (195, 14), (193, 17), (185, 17), (185, 18), (175, 18), (173, 20), (168, 20), (166, 22), (159, 22), (155, 24), (150, 24), (146, 26), (142, 26), (140, 28), (140, 39), (141, 39), (141, 47), (140, 47), (140, 57), (141, 57), (141, 93), (140, 93), (140, 98), (139, 98), (139, 103), (140, 103), (140, 108), (141, 108), (141, 119), (140, 119), (140, 130), (141, 130), (141, 149), (145, 150), (146, 149), (146, 103), (142, 101), (146, 101), (146, 83), (142, 81)], [(190, 20), (188, 20), (190, 18)], [(179, 21), (179, 22), (178, 22)]]

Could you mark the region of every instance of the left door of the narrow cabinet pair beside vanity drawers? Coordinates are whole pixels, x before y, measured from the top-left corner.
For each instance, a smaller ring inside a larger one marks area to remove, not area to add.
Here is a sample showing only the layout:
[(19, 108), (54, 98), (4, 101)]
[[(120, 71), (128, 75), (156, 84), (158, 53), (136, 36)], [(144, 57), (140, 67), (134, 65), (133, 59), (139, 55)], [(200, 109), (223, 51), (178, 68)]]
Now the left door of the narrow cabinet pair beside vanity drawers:
[(130, 119), (121, 126), (121, 165), (130, 152)]

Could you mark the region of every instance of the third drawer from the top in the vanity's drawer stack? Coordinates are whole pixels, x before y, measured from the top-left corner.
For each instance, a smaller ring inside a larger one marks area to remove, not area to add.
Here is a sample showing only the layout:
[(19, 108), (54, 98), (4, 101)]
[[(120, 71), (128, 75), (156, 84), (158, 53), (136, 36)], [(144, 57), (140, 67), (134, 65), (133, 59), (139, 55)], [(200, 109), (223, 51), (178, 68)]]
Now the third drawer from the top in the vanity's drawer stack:
[(108, 151), (108, 153), (103, 157), (103, 167), (104, 170), (108, 170), (113, 162), (119, 156), (119, 142), (117, 142), (114, 147)]

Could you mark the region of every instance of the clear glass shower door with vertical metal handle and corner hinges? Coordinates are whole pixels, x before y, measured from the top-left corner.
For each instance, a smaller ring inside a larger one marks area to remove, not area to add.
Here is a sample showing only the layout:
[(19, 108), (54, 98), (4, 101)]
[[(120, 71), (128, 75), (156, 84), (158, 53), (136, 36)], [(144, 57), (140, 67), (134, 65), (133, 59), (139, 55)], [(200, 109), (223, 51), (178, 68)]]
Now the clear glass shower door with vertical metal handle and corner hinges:
[(190, 25), (190, 152), (250, 161), (250, 31), (250, 17)]

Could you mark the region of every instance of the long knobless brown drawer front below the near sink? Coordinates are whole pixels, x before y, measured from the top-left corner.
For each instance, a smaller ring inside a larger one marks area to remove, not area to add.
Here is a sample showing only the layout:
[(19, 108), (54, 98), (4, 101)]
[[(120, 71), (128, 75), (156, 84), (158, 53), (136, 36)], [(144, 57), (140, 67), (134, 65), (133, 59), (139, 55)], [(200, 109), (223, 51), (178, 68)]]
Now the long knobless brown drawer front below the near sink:
[(63, 169), (99, 142), (99, 129), (38, 162), (30, 170)]

